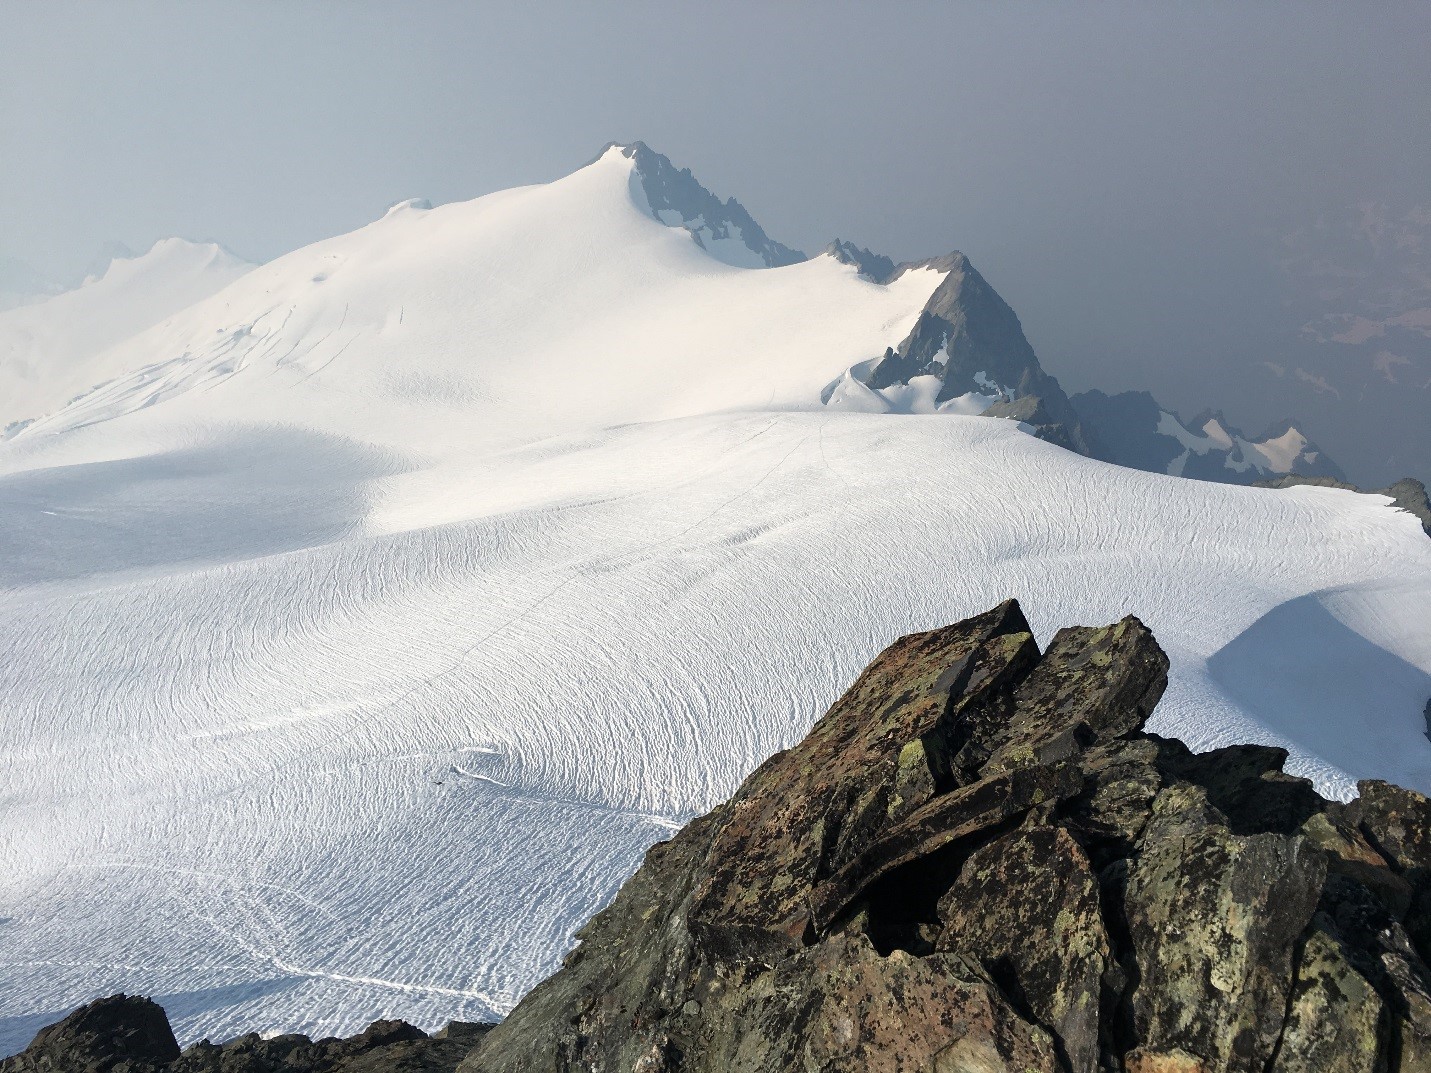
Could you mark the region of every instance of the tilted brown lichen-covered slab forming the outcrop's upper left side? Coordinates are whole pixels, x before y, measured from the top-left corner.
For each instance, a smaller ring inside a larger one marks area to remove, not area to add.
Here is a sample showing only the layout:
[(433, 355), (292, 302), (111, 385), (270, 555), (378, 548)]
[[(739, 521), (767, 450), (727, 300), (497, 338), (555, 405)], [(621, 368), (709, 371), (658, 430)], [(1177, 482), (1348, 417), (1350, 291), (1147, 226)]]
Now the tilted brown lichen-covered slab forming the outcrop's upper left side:
[(810, 891), (890, 817), (950, 788), (960, 710), (997, 718), (1037, 648), (1017, 604), (896, 641), (796, 748), (736, 793), (690, 918), (730, 950), (796, 949)]

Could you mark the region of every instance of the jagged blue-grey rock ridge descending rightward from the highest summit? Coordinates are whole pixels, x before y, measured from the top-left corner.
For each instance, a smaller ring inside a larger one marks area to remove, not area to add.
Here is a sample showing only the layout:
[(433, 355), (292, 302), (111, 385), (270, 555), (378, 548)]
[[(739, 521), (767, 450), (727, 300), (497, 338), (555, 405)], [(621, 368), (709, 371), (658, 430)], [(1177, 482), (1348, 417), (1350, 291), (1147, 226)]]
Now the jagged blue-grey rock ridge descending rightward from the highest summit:
[[(780, 268), (807, 259), (771, 239), (734, 197), (721, 202), (690, 169), (677, 169), (644, 142), (617, 147), (634, 160), (651, 216), (685, 227), (717, 259), (743, 268)], [(1090, 458), (1199, 481), (1251, 484), (1285, 475), (1345, 479), (1295, 421), (1278, 422), (1252, 438), (1221, 411), (1209, 409), (1183, 422), (1148, 392), (1106, 395), (1093, 389), (1069, 398), (1039, 363), (1015, 310), (959, 250), (896, 263), (834, 239), (820, 253), (879, 285), (912, 269), (944, 273), (904, 340), (827, 385), (821, 392), (827, 406), (1009, 418), (1042, 439)]]

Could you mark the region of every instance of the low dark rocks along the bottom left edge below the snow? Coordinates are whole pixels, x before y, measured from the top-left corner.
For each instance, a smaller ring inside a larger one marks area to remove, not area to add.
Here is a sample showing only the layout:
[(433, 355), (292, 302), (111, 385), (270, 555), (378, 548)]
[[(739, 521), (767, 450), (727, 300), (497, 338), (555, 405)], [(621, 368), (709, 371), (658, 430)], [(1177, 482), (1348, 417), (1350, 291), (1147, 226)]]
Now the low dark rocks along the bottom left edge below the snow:
[(452, 1073), (491, 1024), (454, 1021), (428, 1036), (405, 1021), (373, 1021), (351, 1039), (239, 1036), (180, 1053), (165, 1011), (116, 994), (41, 1029), (0, 1073)]

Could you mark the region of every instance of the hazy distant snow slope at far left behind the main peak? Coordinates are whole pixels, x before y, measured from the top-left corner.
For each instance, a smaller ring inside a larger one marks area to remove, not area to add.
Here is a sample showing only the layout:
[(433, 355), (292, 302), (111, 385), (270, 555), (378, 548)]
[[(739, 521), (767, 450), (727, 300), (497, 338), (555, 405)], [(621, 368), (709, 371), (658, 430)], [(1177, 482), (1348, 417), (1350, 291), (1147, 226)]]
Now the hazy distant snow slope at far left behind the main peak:
[(74, 290), (0, 310), (0, 429), (129, 372), (129, 355), (106, 362), (104, 351), (250, 268), (212, 242), (163, 239), (137, 258), (116, 258)]

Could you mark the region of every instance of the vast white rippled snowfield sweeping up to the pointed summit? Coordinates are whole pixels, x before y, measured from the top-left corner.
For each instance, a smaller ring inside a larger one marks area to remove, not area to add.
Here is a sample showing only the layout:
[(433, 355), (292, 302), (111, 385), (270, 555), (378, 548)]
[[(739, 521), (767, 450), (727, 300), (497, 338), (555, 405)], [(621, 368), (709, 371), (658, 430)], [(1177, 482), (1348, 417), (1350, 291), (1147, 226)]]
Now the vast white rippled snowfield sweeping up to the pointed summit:
[(637, 182), (396, 206), (0, 445), (0, 1053), (117, 990), (183, 1042), (499, 1016), (889, 641), (1010, 595), (1146, 621), (1193, 748), (1431, 791), (1415, 519), (823, 406), (939, 275), (734, 268)]

